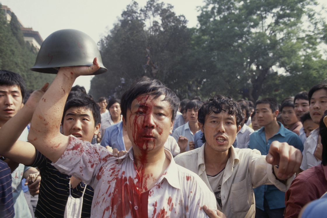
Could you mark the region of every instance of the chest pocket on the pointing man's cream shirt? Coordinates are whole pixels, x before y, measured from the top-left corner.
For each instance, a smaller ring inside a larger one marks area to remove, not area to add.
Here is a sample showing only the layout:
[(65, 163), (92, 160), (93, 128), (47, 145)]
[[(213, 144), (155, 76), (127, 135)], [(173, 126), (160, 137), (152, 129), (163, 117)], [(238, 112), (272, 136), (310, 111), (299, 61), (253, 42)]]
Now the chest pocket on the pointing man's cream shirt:
[(232, 213), (247, 212), (251, 204), (254, 204), (253, 188), (250, 177), (243, 181), (232, 184), (231, 187), (231, 209)]

